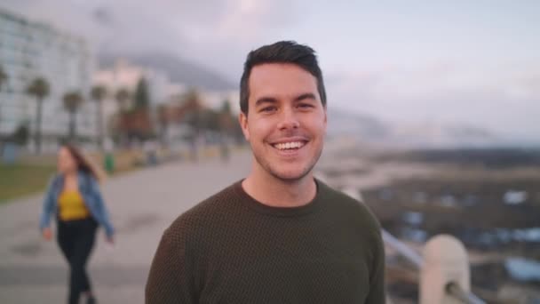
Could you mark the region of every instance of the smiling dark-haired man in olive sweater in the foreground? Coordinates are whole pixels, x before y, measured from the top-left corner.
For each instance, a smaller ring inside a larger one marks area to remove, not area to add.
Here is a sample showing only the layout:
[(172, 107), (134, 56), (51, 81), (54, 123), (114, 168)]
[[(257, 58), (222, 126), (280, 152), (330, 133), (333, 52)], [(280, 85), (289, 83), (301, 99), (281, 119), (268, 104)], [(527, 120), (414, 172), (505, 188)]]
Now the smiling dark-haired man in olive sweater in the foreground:
[(251, 172), (163, 233), (147, 303), (384, 303), (377, 220), (314, 179), (327, 124), (314, 51), (252, 51), (240, 86)]

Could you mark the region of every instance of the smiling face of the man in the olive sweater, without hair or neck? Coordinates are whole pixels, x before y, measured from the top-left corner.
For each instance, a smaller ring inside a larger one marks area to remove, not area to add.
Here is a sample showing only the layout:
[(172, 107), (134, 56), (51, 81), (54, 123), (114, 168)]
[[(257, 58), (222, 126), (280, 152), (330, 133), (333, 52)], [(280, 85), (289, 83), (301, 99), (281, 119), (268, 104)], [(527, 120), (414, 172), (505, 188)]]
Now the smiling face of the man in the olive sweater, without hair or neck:
[(258, 169), (280, 180), (305, 177), (322, 153), (326, 108), (317, 80), (294, 64), (251, 69), (248, 115), (240, 114)]

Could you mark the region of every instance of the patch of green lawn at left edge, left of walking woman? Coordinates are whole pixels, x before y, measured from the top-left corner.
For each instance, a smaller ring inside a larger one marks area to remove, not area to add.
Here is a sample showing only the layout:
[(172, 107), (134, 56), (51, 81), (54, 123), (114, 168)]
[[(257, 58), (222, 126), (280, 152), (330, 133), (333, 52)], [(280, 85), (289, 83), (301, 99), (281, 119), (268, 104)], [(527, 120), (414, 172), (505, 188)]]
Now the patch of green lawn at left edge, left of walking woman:
[(0, 164), (0, 204), (44, 191), (55, 171), (53, 164)]

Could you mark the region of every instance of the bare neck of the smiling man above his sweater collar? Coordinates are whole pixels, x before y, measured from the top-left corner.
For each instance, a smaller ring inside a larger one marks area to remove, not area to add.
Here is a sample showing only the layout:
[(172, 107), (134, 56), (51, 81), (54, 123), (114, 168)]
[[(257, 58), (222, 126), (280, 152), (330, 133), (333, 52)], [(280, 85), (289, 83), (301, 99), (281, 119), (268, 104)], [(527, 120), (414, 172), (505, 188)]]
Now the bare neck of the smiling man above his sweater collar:
[(242, 188), (258, 202), (274, 207), (298, 207), (311, 202), (317, 194), (312, 172), (299, 180), (281, 180), (257, 168), (242, 181)]

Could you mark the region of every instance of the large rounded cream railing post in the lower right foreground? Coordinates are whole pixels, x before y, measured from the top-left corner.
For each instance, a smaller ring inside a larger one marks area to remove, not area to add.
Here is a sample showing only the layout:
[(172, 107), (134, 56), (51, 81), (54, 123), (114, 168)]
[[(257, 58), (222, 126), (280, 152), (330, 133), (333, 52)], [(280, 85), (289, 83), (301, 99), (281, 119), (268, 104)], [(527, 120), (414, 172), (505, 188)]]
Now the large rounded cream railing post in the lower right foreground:
[(424, 247), (420, 269), (420, 304), (463, 303), (447, 292), (449, 284), (471, 290), (471, 274), (465, 246), (454, 236), (433, 236)]

